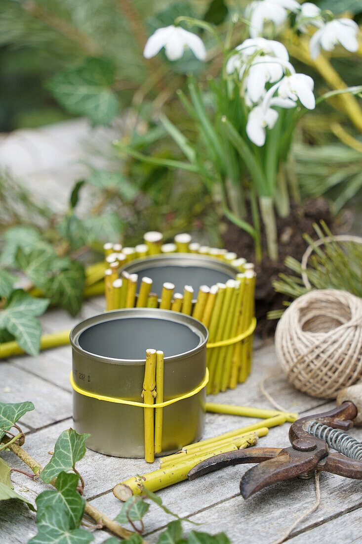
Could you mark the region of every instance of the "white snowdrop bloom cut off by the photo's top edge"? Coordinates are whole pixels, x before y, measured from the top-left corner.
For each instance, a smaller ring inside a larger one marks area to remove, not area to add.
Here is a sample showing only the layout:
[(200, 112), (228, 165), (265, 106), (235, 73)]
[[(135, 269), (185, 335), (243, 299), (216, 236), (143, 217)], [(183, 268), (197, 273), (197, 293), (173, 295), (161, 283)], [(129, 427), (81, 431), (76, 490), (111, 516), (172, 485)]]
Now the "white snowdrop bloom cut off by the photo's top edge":
[(249, 33), (252, 38), (263, 33), (264, 23), (271, 21), (280, 26), (288, 17), (288, 11), (299, 8), (296, 0), (257, 0), (246, 7), (245, 14), (250, 18)]

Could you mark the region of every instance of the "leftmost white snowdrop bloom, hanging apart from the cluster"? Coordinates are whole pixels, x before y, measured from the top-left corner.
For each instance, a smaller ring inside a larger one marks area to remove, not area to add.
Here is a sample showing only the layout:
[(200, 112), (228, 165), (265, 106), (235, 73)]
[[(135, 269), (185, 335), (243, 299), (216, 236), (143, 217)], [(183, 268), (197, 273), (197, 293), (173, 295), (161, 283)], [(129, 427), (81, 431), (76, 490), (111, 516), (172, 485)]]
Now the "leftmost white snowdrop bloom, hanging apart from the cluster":
[(182, 27), (175, 27), (173, 24), (158, 28), (148, 38), (143, 50), (143, 57), (150, 59), (157, 55), (163, 47), (168, 60), (180, 59), (186, 47), (191, 49), (197, 59), (205, 60), (206, 58), (206, 49), (201, 38)]

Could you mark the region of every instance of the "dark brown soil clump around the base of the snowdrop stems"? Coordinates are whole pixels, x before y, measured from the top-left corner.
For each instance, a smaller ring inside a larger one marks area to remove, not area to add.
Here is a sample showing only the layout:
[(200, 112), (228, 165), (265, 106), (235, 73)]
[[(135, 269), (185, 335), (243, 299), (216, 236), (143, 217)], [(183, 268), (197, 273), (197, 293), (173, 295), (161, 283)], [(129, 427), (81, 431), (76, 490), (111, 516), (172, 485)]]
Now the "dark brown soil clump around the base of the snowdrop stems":
[[(279, 259), (272, 262), (265, 253), (265, 232), (262, 232), (263, 263), (255, 265), (257, 272), (257, 286), (255, 290), (255, 312), (258, 319), (257, 331), (265, 336), (271, 335), (276, 327), (276, 320), (267, 320), (266, 314), (271, 310), (279, 310), (283, 307), (286, 295), (276, 293), (272, 282), (278, 279), (280, 272), (291, 273), (284, 265), (285, 258), (289, 255), (301, 261), (307, 244), (303, 234), (307, 233), (316, 238), (313, 228), (314, 223), (321, 220), (332, 227), (332, 214), (328, 202), (323, 199), (308, 199), (303, 207), (291, 204), (291, 213), (287, 218), (277, 218)], [(255, 263), (254, 243), (248, 234), (239, 227), (226, 220), (227, 230), (223, 234), (224, 245), (228, 251), (235, 251), (239, 257), (245, 257), (247, 261)]]

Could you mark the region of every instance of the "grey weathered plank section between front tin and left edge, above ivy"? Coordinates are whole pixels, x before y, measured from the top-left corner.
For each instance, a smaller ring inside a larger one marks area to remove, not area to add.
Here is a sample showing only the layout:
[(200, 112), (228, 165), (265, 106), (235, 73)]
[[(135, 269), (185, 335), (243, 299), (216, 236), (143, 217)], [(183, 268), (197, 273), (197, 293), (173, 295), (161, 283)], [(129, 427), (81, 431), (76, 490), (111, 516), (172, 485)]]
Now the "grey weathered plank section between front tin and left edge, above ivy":
[[(35, 410), (26, 413), (21, 422), (33, 429), (60, 421), (72, 415), (72, 395), (11, 362), (0, 363), (3, 390), (0, 401), (19, 403), (33, 401)], [(4, 392), (5, 391), (8, 392)]]

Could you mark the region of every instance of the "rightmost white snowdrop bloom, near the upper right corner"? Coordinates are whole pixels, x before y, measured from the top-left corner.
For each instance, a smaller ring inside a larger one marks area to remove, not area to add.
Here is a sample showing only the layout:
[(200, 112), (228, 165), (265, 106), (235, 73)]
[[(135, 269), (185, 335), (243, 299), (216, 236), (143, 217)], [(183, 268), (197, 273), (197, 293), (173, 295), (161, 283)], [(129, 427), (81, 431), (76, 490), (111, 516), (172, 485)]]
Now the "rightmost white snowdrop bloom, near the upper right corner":
[(347, 51), (354, 53), (358, 50), (358, 24), (351, 19), (341, 18), (330, 21), (319, 28), (311, 37), (309, 52), (312, 59), (316, 59), (321, 51), (332, 51), (339, 43)]

